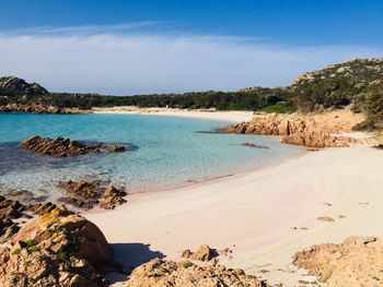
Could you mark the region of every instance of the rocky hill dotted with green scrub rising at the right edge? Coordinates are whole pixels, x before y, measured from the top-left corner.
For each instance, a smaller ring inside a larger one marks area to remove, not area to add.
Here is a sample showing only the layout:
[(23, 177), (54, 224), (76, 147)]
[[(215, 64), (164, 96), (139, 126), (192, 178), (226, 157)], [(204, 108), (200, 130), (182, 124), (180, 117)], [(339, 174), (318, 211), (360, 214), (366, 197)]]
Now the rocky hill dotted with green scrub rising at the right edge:
[(360, 129), (378, 129), (383, 122), (383, 59), (353, 59), (299, 75), (290, 86), (301, 111), (352, 105), (365, 112)]

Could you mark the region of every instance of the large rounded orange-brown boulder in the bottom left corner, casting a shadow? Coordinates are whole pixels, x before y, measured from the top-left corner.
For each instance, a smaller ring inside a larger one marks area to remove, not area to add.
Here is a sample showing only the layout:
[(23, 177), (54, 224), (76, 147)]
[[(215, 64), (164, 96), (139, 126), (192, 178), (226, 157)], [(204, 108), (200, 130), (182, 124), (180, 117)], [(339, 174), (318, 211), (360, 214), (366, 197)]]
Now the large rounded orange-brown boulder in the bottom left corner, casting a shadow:
[(26, 223), (0, 247), (0, 286), (105, 286), (112, 250), (80, 215), (54, 210)]

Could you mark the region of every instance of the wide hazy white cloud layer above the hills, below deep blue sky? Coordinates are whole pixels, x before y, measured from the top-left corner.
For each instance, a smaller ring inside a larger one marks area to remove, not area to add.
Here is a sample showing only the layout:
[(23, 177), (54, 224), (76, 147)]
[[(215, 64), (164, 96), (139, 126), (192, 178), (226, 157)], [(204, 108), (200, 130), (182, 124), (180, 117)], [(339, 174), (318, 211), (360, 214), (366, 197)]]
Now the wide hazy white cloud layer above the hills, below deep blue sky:
[(381, 47), (289, 47), (235, 37), (111, 32), (131, 25), (2, 33), (0, 75), (39, 82), (54, 92), (234, 91), (286, 85), (298, 73), (333, 62), (382, 57)]

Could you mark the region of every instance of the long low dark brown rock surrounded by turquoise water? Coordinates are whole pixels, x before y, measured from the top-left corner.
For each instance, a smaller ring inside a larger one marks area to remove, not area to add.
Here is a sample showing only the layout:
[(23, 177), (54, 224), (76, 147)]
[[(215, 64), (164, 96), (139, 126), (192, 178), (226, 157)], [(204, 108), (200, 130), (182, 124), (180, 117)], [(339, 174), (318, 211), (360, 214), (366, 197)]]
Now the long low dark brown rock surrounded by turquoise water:
[(125, 151), (124, 145), (105, 145), (105, 144), (95, 144), (86, 145), (70, 139), (63, 137), (40, 137), (34, 135), (20, 144), (21, 147), (25, 148), (28, 152), (37, 153), (42, 155), (50, 155), (58, 157), (66, 157), (68, 155), (77, 156), (89, 153), (98, 153), (101, 151), (107, 150), (111, 152), (121, 152)]

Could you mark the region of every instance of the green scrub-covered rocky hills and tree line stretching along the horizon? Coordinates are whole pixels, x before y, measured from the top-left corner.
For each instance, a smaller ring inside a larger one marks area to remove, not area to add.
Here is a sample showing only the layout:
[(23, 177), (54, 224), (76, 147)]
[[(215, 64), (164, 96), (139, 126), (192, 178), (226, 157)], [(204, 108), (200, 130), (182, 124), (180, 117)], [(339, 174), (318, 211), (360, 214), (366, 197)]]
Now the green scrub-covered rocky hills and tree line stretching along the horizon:
[[(287, 87), (247, 87), (236, 92), (192, 92), (139, 96), (49, 93), (18, 77), (0, 79), (0, 106), (50, 105), (58, 108), (170, 107), (184, 109), (302, 112), (352, 106), (368, 119), (357, 129), (383, 128), (383, 59), (353, 59), (299, 75)], [(0, 109), (1, 110), (1, 109)]]

